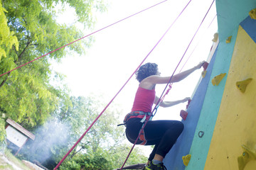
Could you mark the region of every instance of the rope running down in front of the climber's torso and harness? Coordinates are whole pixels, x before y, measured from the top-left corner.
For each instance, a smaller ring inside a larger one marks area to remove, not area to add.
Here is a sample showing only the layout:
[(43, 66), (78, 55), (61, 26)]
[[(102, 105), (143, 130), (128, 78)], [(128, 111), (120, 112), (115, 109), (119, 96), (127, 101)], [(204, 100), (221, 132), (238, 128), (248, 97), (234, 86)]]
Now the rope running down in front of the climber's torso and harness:
[[(213, 2), (214, 2), (214, 1), (215, 1), (215, 0), (213, 0)], [(188, 2), (188, 4), (189, 4), (189, 3), (190, 3), (190, 1)], [(187, 4), (187, 6), (188, 6), (188, 4)], [(210, 8), (211, 8), (211, 6), (213, 6), (213, 3), (210, 5)], [(185, 7), (185, 8), (186, 8), (186, 7)], [(185, 8), (184, 8), (184, 9), (185, 9)], [(208, 12), (210, 11), (210, 8), (208, 9), (206, 15), (204, 16), (203, 21), (205, 20), (205, 18), (206, 18), (206, 16), (207, 16)], [(184, 10), (184, 9), (183, 9), (183, 10)], [(198, 33), (199, 28), (201, 28), (201, 25), (202, 25), (203, 21), (201, 22), (201, 24), (199, 25), (198, 29), (196, 30), (196, 33), (193, 35), (193, 38), (191, 39), (191, 42), (193, 41), (193, 39), (195, 38), (196, 34)], [(191, 42), (189, 42), (188, 47), (190, 47)], [(186, 51), (184, 52), (183, 56), (181, 57), (181, 60), (178, 62), (176, 69), (178, 69), (179, 64), (181, 64), (181, 61), (183, 60), (183, 57), (186, 55), (186, 52), (187, 52), (187, 50), (188, 50), (188, 47), (186, 48)], [(174, 70), (174, 73), (176, 72), (176, 69)], [(169, 83), (171, 82), (172, 77), (174, 77), (174, 73), (171, 75), (171, 78), (169, 79)], [(167, 86), (169, 86), (169, 89), (171, 89), (171, 86), (169, 85), (169, 83), (166, 84), (166, 87), (165, 87), (164, 91), (166, 91)], [(161, 94), (161, 96), (163, 96), (164, 91), (163, 91), (163, 93)], [(167, 92), (169, 92), (169, 90), (167, 90)], [(165, 96), (165, 95), (164, 95), (164, 96)], [(163, 101), (163, 100), (164, 100), (164, 97), (163, 97), (163, 98), (162, 98), (162, 97), (159, 98), (159, 101)], [(158, 108), (158, 106), (159, 106), (159, 101), (158, 101), (158, 104), (156, 104), (156, 106), (154, 107), (154, 110), (151, 112), (150, 116), (153, 114), (154, 111), (157, 110), (157, 108)], [(149, 117), (150, 117), (150, 116), (149, 116)], [(137, 143), (137, 141), (139, 140), (139, 136), (142, 134), (142, 131), (144, 130), (144, 128), (145, 128), (145, 126), (146, 126), (146, 123), (148, 123), (148, 121), (149, 121), (149, 118), (146, 118), (146, 122), (145, 122), (144, 125), (142, 126), (142, 130), (140, 130), (139, 135), (138, 135), (137, 139), (135, 140), (134, 145), (132, 146), (132, 149), (134, 149), (134, 146), (135, 146), (135, 144)], [(124, 164), (127, 162), (127, 159), (129, 158), (129, 155), (132, 153), (132, 149), (130, 150), (130, 152), (129, 152), (127, 158), (125, 159)], [(124, 164), (122, 165), (122, 167), (121, 167), (120, 170), (122, 170), (122, 168), (124, 167)]]

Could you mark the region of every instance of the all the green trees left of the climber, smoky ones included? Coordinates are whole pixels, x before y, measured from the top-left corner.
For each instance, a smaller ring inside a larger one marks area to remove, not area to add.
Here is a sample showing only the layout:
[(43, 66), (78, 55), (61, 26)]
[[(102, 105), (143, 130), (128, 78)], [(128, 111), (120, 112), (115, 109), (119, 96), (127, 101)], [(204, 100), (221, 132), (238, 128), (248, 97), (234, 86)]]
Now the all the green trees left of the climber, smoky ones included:
[[(1, 0), (0, 4), (0, 74), (81, 38), (76, 23), (91, 28), (93, 11), (105, 10), (102, 0)], [(58, 5), (75, 9), (74, 24), (56, 21)], [(81, 55), (91, 43), (92, 38), (75, 42), (0, 77), (0, 130), (4, 120), (11, 118), (36, 135), (35, 141), (30, 140), (21, 149), (19, 157), (53, 169), (105, 107), (96, 98), (70, 98), (62, 83), (63, 75), (50, 69), (51, 61), (60, 61), (71, 51)], [(117, 114), (114, 109), (105, 111), (60, 168), (121, 166), (128, 147), (120, 136), (124, 129), (116, 126)], [(1, 133), (0, 140), (3, 137)], [(142, 159), (146, 161), (138, 151), (128, 163)]]

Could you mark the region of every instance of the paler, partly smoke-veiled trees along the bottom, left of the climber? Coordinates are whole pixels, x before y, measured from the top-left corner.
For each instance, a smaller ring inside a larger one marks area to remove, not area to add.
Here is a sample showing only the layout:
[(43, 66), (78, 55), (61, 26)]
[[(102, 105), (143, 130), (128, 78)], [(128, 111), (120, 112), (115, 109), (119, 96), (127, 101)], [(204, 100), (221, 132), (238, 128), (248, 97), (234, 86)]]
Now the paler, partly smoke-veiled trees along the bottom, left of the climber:
[[(30, 141), (19, 157), (53, 169), (105, 106), (96, 97), (71, 97), (70, 100), (72, 106), (60, 108), (51, 120), (38, 128), (36, 140)], [(117, 127), (118, 113), (114, 108), (107, 109), (60, 169), (108, 170), (122, 166), (132, 146), (124, 144), (124, 128)], [(146, 157), (139, 152), (135, 149), (127, 164), (146, 162)]]

